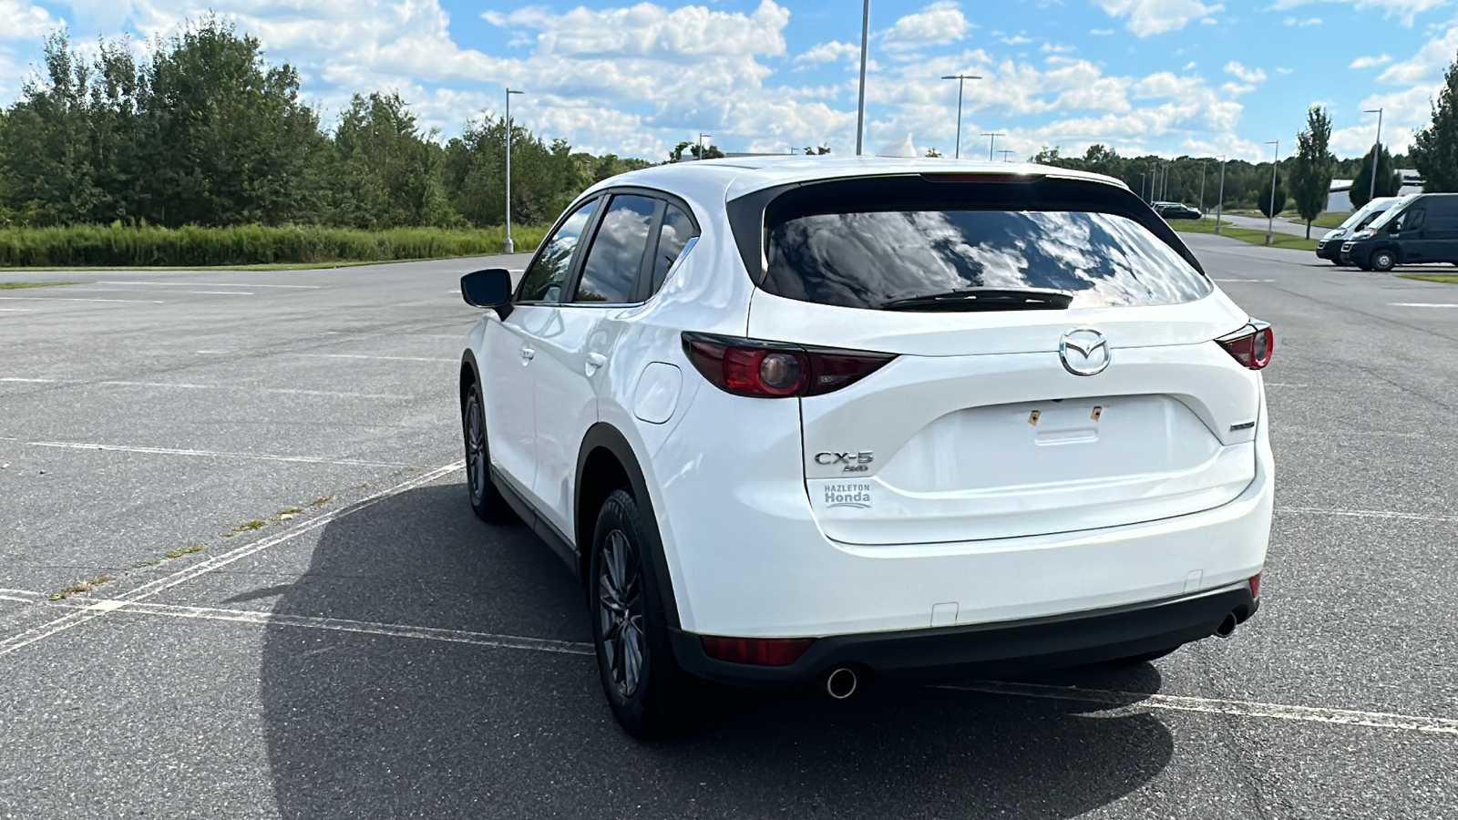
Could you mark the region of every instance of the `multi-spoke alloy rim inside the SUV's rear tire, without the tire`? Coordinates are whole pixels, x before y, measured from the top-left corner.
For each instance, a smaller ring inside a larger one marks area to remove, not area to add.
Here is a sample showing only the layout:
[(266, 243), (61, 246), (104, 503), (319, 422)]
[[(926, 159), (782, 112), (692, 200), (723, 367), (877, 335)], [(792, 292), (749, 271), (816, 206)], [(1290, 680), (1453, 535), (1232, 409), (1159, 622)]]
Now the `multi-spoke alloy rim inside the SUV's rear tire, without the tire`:
[(602, 540), (598, 570), (598, 620), (612, 683), (623, 697), (637, 692), (647, 654), (643, 633), (643, 579), (639, 556), (621, 530)]

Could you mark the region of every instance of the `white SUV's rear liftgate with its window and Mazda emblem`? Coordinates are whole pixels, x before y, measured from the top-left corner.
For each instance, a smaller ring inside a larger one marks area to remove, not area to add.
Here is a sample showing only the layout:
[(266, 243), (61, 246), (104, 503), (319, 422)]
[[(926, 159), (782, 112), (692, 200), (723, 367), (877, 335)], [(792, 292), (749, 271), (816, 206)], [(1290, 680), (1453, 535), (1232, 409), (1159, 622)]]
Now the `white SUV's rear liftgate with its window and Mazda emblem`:
[[(889, 546), (1094, 530), (1210, 509), (1251, 483), (1260, 378), (1213, 341), (1247, 317), (1137, 210), (1082, 210), (1094, 204), (1060, 201), (1059, 185), (968, 188), (962, 204), (857, 201), (850, 185), (771, 204), (749, 336), (898, 355), (800, 400), (806, 492), (827, 535)], [(1072, 302), (910, 306), (987, 287)]]

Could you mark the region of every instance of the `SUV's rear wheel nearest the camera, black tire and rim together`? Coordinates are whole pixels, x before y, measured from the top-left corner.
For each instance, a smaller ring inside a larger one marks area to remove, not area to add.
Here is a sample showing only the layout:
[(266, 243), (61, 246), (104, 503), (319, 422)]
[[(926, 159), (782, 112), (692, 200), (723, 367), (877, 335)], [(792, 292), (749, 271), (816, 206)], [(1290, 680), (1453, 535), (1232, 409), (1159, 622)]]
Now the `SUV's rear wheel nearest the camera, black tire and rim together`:
[(588, 601), (598, 673), (612, 716), (630, 735), (656, 740), (698, 725), (706, 683), (674, 660), (663, 595), (644, 560), (643, 527), (633, 496), (614, 490), (592, 534)]

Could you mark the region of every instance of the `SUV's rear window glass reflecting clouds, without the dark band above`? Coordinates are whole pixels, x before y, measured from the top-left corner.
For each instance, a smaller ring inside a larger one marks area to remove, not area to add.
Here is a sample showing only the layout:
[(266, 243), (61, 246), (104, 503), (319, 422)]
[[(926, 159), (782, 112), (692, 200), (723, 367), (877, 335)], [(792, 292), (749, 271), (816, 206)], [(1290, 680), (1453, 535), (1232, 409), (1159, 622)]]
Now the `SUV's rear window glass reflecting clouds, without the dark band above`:
[[(837, 209), (838, 210), (838, 209)], [(763, 287), (881, 308), (968, 287), (1061, 290), (1070, 308), (1174, 305), (1213, 285), (1133, 219), (1075, 210), (865, 210), (767, 226)]]

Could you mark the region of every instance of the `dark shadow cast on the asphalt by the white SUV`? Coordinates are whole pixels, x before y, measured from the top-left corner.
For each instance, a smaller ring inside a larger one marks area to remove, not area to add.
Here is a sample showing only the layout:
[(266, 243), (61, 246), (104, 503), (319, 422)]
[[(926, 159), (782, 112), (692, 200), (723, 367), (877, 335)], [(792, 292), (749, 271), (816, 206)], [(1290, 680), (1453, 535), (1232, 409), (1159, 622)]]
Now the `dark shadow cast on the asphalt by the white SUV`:
[[(276, 588), (271, 588), (276, 589)], [(273, 623), (264, 732), (280, 814), (332, 817), (1075, 817), (1169, 762), (1147, 712), (894, 687), (835, 702), (719, 690), (701, 731), (623, 734), (582, 592), (522, 525), (477, 521), (458, 484), (332, 521), (276, 613), (569, 642), (567, 652)], [(246, 597), (248, 592), (243, 592)], [(1152, 693), (1159, 673), (1053, 678)]]

